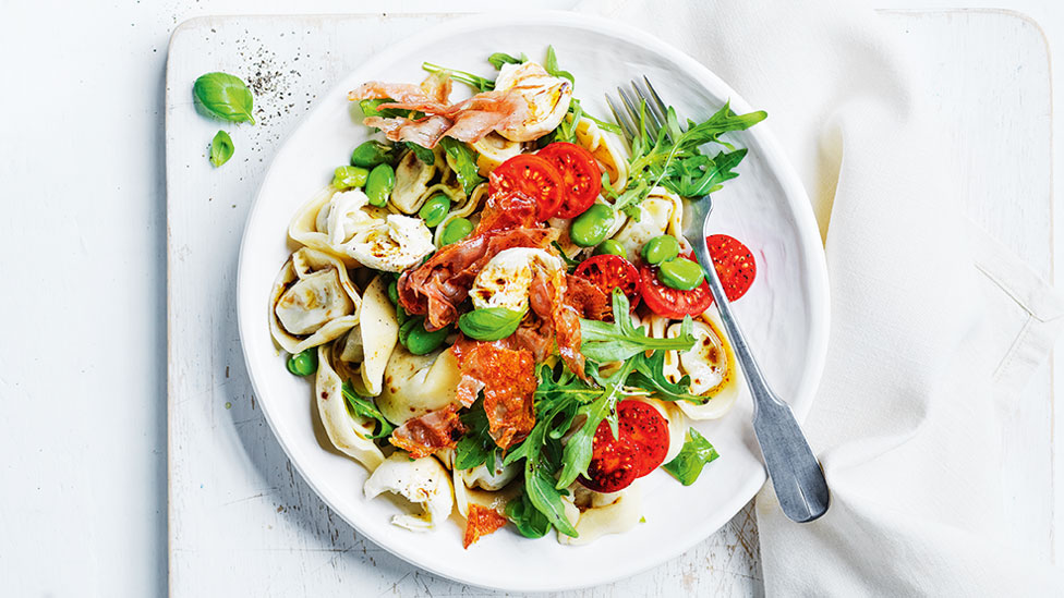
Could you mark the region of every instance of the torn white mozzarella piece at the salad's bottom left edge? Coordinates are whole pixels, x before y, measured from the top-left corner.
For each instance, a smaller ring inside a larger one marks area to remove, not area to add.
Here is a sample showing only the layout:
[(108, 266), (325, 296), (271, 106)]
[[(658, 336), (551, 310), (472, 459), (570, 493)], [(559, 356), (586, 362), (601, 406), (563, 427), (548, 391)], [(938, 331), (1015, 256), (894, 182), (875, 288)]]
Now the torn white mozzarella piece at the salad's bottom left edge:
[(455, 509), (450, 475), (434, 456), (411, 460), (406, 453), (394, 453), (374, 469), (363, 491), (367, 499), (382, 492), (394, 492), (420, 505), (420, 513), (391, 517), (394, 525), (411, 532), (435, 528)]

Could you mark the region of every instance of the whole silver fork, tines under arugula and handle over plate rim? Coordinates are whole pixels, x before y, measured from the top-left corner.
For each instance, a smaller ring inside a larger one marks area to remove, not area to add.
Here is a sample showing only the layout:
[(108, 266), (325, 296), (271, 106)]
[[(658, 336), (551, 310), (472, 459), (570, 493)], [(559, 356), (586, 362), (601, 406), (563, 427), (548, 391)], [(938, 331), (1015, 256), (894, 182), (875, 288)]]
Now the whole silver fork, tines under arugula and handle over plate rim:
[[(652, 138), (656, 138), (665, 125), (667, 108), (650, 81), (645, 76), (641, 82), (632, 81), (631, 90), (618, 87), (617, 93), (624, 109), (620, 109), (608, 95), (606, 103), (609, 105), (614, 118), (625, 131), (628, 141), (631, 142), (637, 134), (641, 105), (646, 107), (646, 132)], [(724, 286), (721, 284), (705, 245), (705, 237), (710, 233), (710, 212), (713, 210), (712, 198), (709, 195), (696, 198), (690, 206), (691, 218), (684, 228), (684, 236), (694, 247), (694, 256), (702, 271), (705, 272), (713, 301), (721, 313), (721, 321), (724, 322), (725, 331), (732, 339), (732, 347), (753, 395), (753, 431), (761, 446), (761, 454), (764, 456), (765, 467), (775, 487), (779, 505), (783, 512), (796, 522), (813, 521), (827, 512), (831, 500), (824, 472), (812, 450), (809, 449), (809, 443), (798, 422), (795, 420), (790, 407), (769, 388), (764, 374), (758, 367), (758, 362), (753, 358), (742, 331), (739, 330), (728, 297), (724, 294)]]

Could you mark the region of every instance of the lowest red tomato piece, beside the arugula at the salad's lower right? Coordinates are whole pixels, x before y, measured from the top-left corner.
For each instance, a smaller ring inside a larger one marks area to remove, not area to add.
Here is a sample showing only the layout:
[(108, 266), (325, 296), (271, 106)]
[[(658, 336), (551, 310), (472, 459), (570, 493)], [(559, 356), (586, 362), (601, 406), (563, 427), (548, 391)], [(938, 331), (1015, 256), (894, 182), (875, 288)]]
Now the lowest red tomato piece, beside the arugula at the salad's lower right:
[(657, 468), (668, 452), (668, 423), (642, 401), (617, 405), (617, 436), (603, 420), (595, 429), (588, 477), (580, 484), (596, 492), (616, 492)]

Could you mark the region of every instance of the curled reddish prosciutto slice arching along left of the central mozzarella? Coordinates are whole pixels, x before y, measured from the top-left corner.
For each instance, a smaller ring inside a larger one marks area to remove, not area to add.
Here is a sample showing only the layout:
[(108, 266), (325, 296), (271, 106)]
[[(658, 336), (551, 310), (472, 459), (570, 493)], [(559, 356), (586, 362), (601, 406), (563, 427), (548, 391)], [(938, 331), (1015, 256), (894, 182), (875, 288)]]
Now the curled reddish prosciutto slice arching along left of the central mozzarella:
[(426, 315), (426, 329), (439, 330), (458, 320), (458, 304), (496, 254), (510, 247), (542, 249), (555, 239), (557, 231), (552, 229), (519, 228), (488, 231), (440, 247), (432, 259), (399, 277), (399, 303), (410, 314)]

